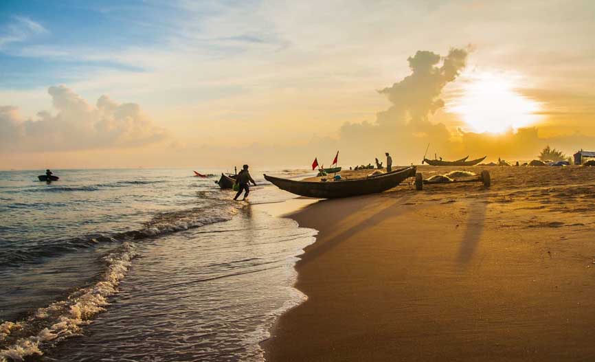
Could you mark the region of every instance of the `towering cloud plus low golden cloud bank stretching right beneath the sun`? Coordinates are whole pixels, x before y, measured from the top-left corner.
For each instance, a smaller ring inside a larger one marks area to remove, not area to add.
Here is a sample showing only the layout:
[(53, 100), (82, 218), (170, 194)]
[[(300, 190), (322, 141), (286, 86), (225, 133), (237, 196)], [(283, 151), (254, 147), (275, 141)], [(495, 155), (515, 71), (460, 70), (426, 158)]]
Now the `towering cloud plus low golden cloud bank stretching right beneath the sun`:
[(547, 144), (568, 154), (595, 146), (595, 137), (580, 133), (543, 137), (538, 128), (519, 128), (497, 135), (450, 130), (435, 121), (449, 117), (442, 109), (440, 95), (464, 69), (467, 51), (451, 49), (445, 57), (418, 51), (407, 60), (412, 73), (379, 91), (388, 98), (390, 107), (377, 113), (375, 122), (346, 122), (341, 126), (336, 146), (349, 150), (351, 159), (359, 157), (362, 163), (368, 163), (375, 155), (388, 151), (399, 163), (420, 162), (428, 144), (429, 157), (436, 153), (446, 159), (488, 155), (489, 159), (526, 160), (536, 157)]

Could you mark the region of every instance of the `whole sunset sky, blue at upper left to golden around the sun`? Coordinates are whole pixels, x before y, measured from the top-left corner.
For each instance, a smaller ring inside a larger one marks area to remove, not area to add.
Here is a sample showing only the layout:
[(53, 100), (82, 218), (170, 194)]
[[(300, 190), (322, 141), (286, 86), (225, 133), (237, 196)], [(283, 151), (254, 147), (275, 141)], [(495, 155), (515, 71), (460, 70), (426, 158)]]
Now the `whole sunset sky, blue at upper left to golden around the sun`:
[(579, 0), (3, 0), (0, 169), (595, 150), (593, 19)]

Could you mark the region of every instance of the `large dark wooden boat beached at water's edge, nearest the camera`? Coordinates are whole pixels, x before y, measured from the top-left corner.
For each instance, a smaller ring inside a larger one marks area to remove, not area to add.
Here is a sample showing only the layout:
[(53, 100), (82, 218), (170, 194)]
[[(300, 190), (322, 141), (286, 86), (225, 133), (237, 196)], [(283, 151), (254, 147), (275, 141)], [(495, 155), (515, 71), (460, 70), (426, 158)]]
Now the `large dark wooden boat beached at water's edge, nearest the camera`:
[(415, 177), (416, 167), (409, 166), (393, 172), (366, 177), (365, 179), (342, 179), (338, 181), (294, 181), (267, 176), (265, 179), (281, 190), (316, 199), (374, 194), (394, 188), (409, 177)]

